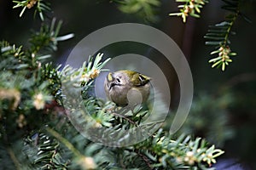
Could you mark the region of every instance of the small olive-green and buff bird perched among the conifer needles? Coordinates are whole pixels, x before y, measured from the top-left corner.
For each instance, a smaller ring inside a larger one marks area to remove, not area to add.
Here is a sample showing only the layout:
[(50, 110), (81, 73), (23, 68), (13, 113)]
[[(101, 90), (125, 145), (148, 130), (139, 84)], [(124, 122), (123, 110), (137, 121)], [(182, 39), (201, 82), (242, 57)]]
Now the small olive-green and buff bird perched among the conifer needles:
[(140, 105), (148, 99), (150, 80), (137, 71), (109, 72), (104, 82), (105, 93), (118, 106)]

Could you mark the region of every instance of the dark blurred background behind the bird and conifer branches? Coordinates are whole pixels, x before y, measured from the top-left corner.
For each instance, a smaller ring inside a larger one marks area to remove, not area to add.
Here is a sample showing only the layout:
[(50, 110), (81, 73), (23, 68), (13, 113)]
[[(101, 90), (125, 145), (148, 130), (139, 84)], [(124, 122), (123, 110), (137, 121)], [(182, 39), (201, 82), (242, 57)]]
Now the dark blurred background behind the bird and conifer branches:
[[(203, 38), (208, 26), (223, 21), (227, 14), (221, 8), (223, 2), (220, 0), (210, 1), (202, 9), (200, 19), (189, 18), (186, 24), (180, 17), (168, 15), (178, 10), (177, 3), (172, 0), (162, 0), (159, 7), (153, 8), (154, 14), (149, 16), (143, 12), (124, 13), (119, 10), (119, 4), (107, 0), (50, 1), (54, 12), (48, 17), (63, 20), (62, 35), (70, 32), (75, 34), (73, 39), (60, 43), (53, 59), (56, 64), (65, 62), (67, 55), (82, 38), (104, 26), (127, 22), (154, 26), (172, 37), (182, 49), (194, 79), (193, 105), (178, 133), (201, 136), (224, 149), (222, 159), (229, 161), (227, 167), (238, 163), (241, 167), (256, 169), (256, 55), (253, 52), (256, 45), (256, 1), (242, 2), (245, 2), (242, 10), (252, 23), (241, 18), (236, 20), (233, 27), (236, 35), (230, 37), (230, 46), (238, 55), (226, 71), (211, 68), (208, 60), (212, 58), (210, 52), (213, 48), (207, 47)], [(20, 18), (20, 8), (13, 9), (13, 6), (11, 1), (0, 1), (0, 38), (26, 48), (32, 29), (38, 30), (40, 21), (38, 15), (33, 19), (31, 9), (27, 9)], [(135, 53), (154, 59), (169, 81), (171, 109), (175, 110), (179, 99), (177, 77), (172, 65), (165, 65), (163, 57), (156, 50), (135, 42), (119, 42), (101, 51), (106, 57)], [(172, 115), (168, 121), (166, 128), (172, 123)]]

